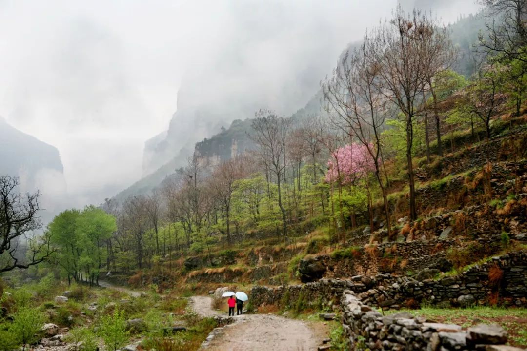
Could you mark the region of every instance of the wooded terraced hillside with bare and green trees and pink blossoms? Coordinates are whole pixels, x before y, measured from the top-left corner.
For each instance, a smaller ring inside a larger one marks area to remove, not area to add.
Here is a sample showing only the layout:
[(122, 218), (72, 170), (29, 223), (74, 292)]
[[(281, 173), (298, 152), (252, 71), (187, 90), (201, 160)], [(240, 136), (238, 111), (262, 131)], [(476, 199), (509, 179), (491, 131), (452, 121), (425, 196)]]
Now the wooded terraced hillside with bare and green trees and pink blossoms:
[[(494, 3), (490, 14), (511, 16)], [(526, 9), (523, 4), (522, 14)], [(527, 296), (508, 295), (503, 270), (492, 266), (495, 256), (506, 261), (506, 254), (527, 250), (525, 33), (523, 21), (487, 25), (473, 52), (485, 59), (459, 69), (450, 31), (425, 14), (399, 9), (339, 58), (321, 83), (323, 113), (285, 117), (261, 109), (199, 143), (187, 165), (153, 192), (66, 210), (42, 238), (52, 252), (26, 274), (90, 285), (104, 276), (169, 297), (222, 286), (284, 286), (272, 306), (250, 301), (247, 307), (305, 318), (337, 309), (337, 299), (310, 298), (302, 287), (291, 296), (286, 286), (345, 278), (370, 302), (378, 297), (368, 288), (373, 281), (386, 279), (394, 291), (402, 282), (423, 286), (424, 280), (458, 289), (450, 277), (490, 267), (476, 273), (492, 291), (471, 302), (525, 307)], [(233, 139), (244, 140), (239, 152), (232, 152)], [(209, 157), (211, 148), (216, 157)], [(466, 290), (463, 296), (472, 296)], [(406, 298), (404, 306), (383, 305), (382, 296), (376, 307), (437, 314), (423, 296)], [(434, 306), (472, 306), (457, 296), (445, 301)], [(155, 306), (168, 302), (183, 305), (174, 297)], [(16, 314), (21, 305), (16, 298), (13, 304), (9, 313)], [(123, 310), (126, 318), (136, 316)], [(504, 324), (507, 312), (500, 311), (484, 320)], [(524, 347), (524, 309), (518, 314), (511, 343)], [(440, 319), (454, 318), (445, 315)], [(456, 318), (466, 323), (464, 314)], [(207, 319), (190, 325), (199, 340), (215, 326)], [(343, 333), (334, 330), (335, 348), (348, 347)]]

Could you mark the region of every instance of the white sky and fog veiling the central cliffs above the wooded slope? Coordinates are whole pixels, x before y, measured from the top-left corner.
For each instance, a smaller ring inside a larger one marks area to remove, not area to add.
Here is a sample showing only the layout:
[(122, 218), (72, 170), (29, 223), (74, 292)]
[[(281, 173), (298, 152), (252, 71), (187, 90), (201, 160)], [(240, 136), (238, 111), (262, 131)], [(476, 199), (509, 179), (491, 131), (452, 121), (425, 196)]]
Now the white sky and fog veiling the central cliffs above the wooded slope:
[(396, 4), (0, 2), (0, 115), (58, 149), (69, 204), (101, 203), (234, 119), (304, 107)]

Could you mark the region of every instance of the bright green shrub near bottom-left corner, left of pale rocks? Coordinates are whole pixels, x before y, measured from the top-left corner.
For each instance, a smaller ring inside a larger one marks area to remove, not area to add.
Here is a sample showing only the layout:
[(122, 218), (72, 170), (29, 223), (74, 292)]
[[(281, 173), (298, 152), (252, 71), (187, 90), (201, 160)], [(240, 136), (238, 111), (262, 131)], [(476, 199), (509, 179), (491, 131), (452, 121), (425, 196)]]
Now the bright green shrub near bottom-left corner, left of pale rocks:
[(17, 344), (22, 344), (22, 349), (25, 350), (26, 345), (36, 342), (36, 334), (44, 323), (44, 316), (37, 309), (22, 307), (13, 317), (13, 324), (9, 327), (9, 332), (13, 340)]

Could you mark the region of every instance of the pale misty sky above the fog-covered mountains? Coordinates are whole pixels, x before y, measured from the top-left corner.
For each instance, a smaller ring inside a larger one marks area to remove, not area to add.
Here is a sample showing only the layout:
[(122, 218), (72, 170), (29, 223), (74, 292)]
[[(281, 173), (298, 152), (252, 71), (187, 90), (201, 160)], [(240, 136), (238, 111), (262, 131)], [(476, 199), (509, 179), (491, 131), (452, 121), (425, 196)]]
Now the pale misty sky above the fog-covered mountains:
[(254, 43), (232, 59), (253, 60), (262, 76), (277, 67), (266, 64), (269, 51), (284, 53), (276, 79), (292, 74), (293, 60), (329, 73), (395, 4), (0, 0), (0, 115), (58, 148), (70, 194), (101, 202), (139, 178), (143, 143), (167, 128), (183, 77), (241, 35)]

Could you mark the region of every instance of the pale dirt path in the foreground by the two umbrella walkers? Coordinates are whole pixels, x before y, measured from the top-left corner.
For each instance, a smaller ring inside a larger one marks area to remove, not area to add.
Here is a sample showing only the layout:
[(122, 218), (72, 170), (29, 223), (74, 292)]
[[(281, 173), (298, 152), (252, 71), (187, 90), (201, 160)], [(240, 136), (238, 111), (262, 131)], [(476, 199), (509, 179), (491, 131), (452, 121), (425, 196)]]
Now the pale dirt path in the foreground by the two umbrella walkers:
[[(194, 296), (192, 308), (200, 316), (219, 315), (211, 298)], [(317, 350), (320, 333), (301, 320), (275, 315), (242, 315), (226, 326), (206, 347), (210, 351), (311, 351)]]

